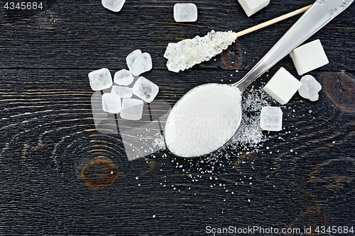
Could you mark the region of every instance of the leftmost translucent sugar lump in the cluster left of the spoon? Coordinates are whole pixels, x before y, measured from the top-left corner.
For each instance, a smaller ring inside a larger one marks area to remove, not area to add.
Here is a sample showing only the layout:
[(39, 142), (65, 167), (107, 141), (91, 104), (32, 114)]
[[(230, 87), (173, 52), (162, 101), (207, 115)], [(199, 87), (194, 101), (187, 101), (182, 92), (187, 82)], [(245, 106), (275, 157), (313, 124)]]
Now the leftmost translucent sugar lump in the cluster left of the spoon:
[(109, 69), (102, 68), (89, 72), (89, 81), (92, 90), (108, 89), (112, 86), (112, 77)]

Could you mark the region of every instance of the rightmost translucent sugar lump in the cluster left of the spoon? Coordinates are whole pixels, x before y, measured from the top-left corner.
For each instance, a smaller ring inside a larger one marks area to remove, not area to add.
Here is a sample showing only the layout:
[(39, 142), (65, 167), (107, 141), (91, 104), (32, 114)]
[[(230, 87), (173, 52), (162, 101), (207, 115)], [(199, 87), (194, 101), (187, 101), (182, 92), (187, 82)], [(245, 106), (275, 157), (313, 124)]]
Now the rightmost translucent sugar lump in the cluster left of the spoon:
[(144, 77), (139, 77), (133, 85), (133, 94), (147, 103), (151, 103), (155, 99), (158, 91), (159, 86)]

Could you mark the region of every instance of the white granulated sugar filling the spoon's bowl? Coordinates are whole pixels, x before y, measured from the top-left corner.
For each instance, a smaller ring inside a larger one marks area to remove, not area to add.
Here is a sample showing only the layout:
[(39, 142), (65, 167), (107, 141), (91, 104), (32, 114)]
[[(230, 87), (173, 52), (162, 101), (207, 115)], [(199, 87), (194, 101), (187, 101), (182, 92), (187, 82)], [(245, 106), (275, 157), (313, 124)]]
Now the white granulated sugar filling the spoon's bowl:
[(165, 125), (168, 149), (196, 157), (222, 147), (236, 133), (240, 103), (241, 93), (234, 86), (204, 84), (191, 90), (170, 112)]

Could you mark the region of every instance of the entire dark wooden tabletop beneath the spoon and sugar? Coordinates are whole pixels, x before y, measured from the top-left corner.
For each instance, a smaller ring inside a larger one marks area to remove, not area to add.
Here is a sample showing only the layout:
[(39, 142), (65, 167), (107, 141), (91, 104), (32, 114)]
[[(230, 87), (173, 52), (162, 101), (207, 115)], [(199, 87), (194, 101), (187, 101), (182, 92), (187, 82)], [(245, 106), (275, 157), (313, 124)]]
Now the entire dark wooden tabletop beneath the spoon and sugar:
[[(0, 1), (0, 235), (355, 227), (354, 6), (310, 38), (321, 40), (329, 58), (310, 72), (322, 84), (319, 101), (296, 94), (283, 106), (285, 129), (264, 132), (257, 152), (226, 148), (182, 159), (163, 150), (129, 162), (119, 133), (97, 132), (90, 71), (114, 74), (132, 50), (149, 52), (153, 70), (144, 76), (160, 87), (156, 99), (173, 106), (197, 85), (237, 82), (297, 17), (244, 35), (178, 74), (165, 67), (168, 43), (239, 31), (312, 4), (275, 0), (247, 18), (237, 1), (197, 1), (198, 21), (175, 23), (178, 2), (126, 1), (113, 13), (94, 0), (43, 1), (42, 11), (6, 11)], [(285, 57), (253, 86), (281, 66), (297, 74)]]

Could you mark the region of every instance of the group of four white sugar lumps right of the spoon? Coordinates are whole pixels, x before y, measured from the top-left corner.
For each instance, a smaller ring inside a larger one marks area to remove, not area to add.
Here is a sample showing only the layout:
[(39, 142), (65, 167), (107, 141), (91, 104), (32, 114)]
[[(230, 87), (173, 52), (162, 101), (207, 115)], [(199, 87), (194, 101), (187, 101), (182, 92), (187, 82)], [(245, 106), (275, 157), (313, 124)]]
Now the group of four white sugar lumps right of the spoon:
[[(329, 63), (320, 40), (314, 40), (297, 47), (290, 53), (290, 56), (295, 64), (298, 75), (305, 74)], [(303, 98), (317, 101), (319, 97), (318, 93), (321, 89), (322, 86), (312, 75), (307, 74), (299, 81), (283, 67), (263, 87), (266, 93), (282, 105), (288, 103), (297, 91)], [(282, 130), (282, 116), (283, 113), (278, 107), (263, 107), (261, 109), (261, 128), (269, 131)]]

